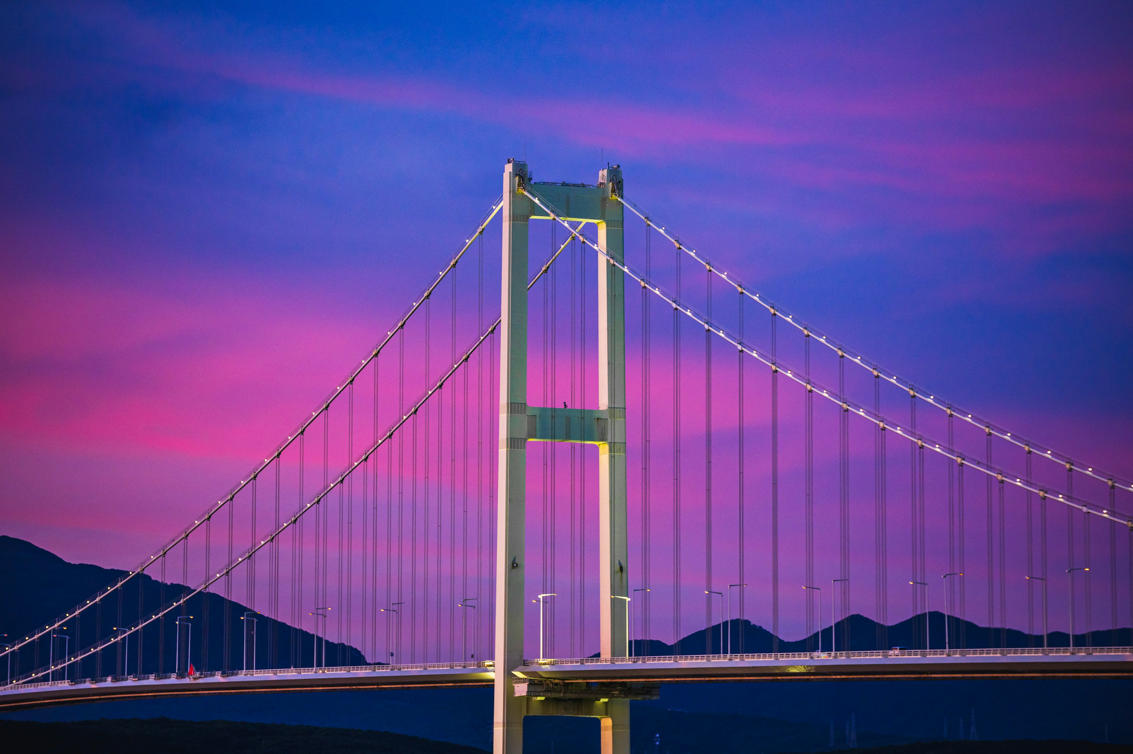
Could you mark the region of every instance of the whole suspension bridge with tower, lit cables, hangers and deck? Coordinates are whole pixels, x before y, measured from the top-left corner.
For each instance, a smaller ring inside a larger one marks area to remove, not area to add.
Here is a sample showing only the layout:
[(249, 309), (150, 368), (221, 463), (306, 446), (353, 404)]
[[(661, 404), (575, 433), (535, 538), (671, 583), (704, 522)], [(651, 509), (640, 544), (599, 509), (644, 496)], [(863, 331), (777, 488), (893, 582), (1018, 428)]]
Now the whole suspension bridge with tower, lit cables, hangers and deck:
[(262, 461), (0, 644), (0, 710), (491, 685), (496, 752), (576, 714), (614, 753), (661, 683), (1128, 677), (1130, 493), (777, 306), (619, 167), (509, 161)]

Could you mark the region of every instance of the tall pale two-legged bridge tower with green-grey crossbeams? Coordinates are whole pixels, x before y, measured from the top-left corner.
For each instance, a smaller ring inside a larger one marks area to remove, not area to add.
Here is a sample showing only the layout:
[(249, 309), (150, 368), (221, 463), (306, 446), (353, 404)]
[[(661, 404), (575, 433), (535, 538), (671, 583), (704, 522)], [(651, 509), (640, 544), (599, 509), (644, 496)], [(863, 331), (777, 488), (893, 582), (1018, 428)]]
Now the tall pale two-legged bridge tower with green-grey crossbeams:
[[(499, 536), (496, 550), (495, 754), (519, 754), (523, 717), (574, 714), (602, 721), (603, 754), (630, 751), (629, 697), (610, 689), (586, 697), (579, 689), (546, 688), (512, 671), (523, 664), (525, 505), (527, 443), (586, 442), (598, 446), (599, 615), (602, 656), (624, 656), (629, 596), (625, 511), (625, 283), (624, 273), (598, 257), (598, 408), (535, 407), (527, 404), (528, 222), (552, 219), (529, 198), (568, 221), (595, 222), (599, 244), (624, 255), (624, 209), (620, 167), (598, 173), (598, 185), (534, 183), (526, 162), (509, 160), (503, 173), (503, 285), (500, 348)], [(616, 604), (615, 604), (616, 602)], [(569, 686), (569, 684), (568, 684)]]

